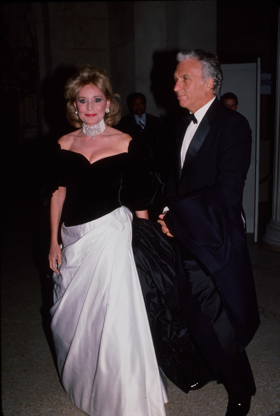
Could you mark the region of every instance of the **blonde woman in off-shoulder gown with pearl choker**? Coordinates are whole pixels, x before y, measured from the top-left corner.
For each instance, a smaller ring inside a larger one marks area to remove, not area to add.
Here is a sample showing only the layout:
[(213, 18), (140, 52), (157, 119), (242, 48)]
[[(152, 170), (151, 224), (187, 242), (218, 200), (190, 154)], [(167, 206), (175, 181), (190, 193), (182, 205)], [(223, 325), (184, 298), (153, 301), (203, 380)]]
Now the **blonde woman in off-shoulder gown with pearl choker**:
[[(164, 416), (160, 376), (132, 251), (132, 213), (147, 217), (161, 185), (131, 137), (107, 74), (84, 66), (65, 86), (79, 127), (46, 150), (52, 171), (52, 334), (61, 383), (93, 416)], [(58, 243), (60, 218), (62, 249)]]

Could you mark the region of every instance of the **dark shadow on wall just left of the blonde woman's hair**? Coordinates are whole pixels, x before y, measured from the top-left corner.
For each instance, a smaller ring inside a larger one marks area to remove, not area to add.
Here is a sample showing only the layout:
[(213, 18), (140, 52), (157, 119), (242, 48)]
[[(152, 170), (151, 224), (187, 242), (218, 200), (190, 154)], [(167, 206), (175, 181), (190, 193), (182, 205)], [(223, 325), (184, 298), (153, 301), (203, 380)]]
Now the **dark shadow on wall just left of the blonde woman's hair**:
[(42, 116), (49, 128), (49, 136), (51, 139), (58, 139), (75, 129), (73, 126), (70, 126), (66, 119), (67, 101), (64, 98), (65, 83), (75, 72), (77, 72), (77, 68), (61, 65), (42, 82)]

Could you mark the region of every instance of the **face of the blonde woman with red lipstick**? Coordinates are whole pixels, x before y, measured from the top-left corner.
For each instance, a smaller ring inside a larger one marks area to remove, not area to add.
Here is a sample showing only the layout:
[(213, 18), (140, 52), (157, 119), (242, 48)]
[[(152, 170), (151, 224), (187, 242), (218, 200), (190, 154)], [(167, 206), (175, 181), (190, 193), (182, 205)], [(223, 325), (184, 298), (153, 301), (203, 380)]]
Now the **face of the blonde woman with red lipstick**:
[(97, 124), (105, 115), (105, 109), (110, 106), (110, 100), (95, 85), (87, 84), (80, 89), (74, 105), (78, 116), (85, 124)]

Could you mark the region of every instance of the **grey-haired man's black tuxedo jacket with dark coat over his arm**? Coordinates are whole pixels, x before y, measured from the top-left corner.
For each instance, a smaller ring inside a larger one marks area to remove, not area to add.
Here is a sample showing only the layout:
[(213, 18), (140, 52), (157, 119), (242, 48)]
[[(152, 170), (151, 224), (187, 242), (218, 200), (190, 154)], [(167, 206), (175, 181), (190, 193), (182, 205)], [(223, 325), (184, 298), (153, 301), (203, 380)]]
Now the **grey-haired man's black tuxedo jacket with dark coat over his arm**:
[(245, 117), (215, 99), (190, 142), (181, 169), (186, 128), (184, 120), (177, 126), (173, 172), (166, 184), (170, 211), (165, 222), (208, 271), (242, 351), (259, 325), (242, 208), (251, 156), (250, 126)]

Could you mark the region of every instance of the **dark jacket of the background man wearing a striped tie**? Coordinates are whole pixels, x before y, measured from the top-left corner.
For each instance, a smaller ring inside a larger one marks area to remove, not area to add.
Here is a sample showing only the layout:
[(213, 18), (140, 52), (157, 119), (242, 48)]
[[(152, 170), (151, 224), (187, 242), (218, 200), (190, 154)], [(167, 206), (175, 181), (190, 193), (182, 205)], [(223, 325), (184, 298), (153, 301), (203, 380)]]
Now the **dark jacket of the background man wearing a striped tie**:
[(157, 143), (159, 122), (160, 119), (158, 117), (146, 113), (145, 129), (141, 131), (135, 121), (134, 114), (128, 114), (127, 116), (123, 116), (120, 123), (115, 127), (123, 133), (129, 134), (135, 140), (144, 141), (153, 150)]

